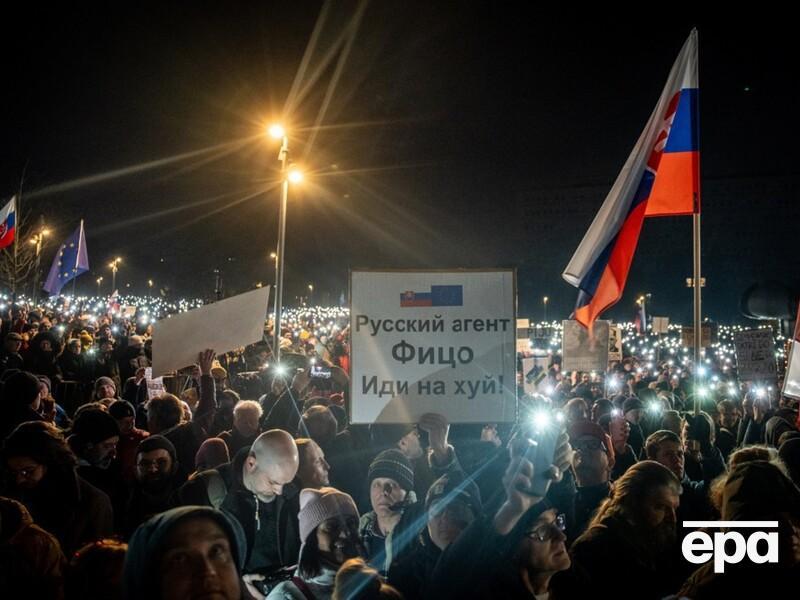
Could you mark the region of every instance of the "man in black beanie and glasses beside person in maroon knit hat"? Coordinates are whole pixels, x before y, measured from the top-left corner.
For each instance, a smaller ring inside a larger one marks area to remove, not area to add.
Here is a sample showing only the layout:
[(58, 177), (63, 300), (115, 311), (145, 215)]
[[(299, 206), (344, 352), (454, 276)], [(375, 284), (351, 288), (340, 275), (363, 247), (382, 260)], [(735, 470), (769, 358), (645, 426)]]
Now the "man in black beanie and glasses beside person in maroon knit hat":
[(122, 527), (126, 537), (151, 516), (176, 505), (175, 492), (181, 484), (177, 471), (172, 442), (163, 435), (151, 435), (141, 441), (136, 450), (136, 482)]

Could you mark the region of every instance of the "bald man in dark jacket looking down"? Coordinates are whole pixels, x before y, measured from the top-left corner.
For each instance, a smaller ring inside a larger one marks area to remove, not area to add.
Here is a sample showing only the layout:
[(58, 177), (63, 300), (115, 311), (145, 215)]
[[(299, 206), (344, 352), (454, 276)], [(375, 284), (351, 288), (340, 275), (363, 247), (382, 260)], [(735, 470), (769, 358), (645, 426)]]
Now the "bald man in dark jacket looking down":
[(297, 564), (299, 490), (291, 482), (299, 464), (294, 439), (281, 429), (262, 433), (234, 458), (233, 482), (221, 508), (244, 529), (246, 574)]

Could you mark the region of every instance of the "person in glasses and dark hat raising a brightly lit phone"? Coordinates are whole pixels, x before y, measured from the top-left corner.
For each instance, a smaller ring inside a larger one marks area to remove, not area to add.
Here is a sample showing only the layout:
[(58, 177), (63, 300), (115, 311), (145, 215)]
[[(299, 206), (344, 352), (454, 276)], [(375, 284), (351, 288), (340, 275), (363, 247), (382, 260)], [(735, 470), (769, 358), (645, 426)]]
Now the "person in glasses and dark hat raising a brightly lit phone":
[[(570, 566), (565, 518), (531, 489), (533, 463), (525, 441), (511, 444), (503, 484), (506, 500), (493, 516), (473, 521), (442, 554), (425, 593), (428, 598), (548, 598), (550, 580)], [(570, 466), (566, 434), (557, 443), (548, 476)], [(391, 579), (389, 583), (392, 583)]]

